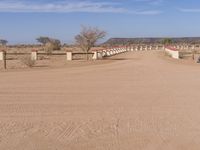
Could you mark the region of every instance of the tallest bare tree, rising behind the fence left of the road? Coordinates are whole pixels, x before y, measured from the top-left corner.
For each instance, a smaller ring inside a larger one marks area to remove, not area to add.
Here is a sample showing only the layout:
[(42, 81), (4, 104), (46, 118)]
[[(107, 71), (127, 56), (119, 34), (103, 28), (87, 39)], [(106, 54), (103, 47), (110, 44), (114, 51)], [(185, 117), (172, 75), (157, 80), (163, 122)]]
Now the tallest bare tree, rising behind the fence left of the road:
[(96, 27), (85, 27), (82, 26), (80, 34), (75, 37), (76, 43), (80, 46), (80, 48), (88, 53), (92, 47), (95, 46), (98, 40), (103, 39), (106, 36), (106, 32), (100, 30)]

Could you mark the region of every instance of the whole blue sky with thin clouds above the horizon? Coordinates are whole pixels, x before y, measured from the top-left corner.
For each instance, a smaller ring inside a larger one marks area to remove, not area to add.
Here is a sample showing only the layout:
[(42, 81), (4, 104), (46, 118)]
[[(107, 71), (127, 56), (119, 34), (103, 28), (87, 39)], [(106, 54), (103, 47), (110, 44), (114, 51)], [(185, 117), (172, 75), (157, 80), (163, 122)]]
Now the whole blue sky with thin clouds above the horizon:
[(81, 25), (107, 31), (107, 39), (200, 36), (199, 16), (199, 0), (0, 0), (0, 38), (73, 43)]

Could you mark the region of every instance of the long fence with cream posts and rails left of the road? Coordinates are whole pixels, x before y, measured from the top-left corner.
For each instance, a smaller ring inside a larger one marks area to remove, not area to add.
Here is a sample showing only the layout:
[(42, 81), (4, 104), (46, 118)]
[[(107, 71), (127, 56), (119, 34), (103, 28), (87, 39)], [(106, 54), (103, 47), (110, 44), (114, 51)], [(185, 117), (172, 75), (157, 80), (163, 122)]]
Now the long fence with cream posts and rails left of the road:
[(144, 50), (163, 50), (163, 45), (132, 45), (132, 46), (121, 46), (121, 47), (112, 47), (112, 48), (103, 48), (98, 50), (93, 50), (89, 53), (80, 53), (80, 52), (71, 52), (71, 51), (60, 51), (60, 52), (52, 52), (45, 53), (37, 50), (32, 50), (31, 53), (6, 53), (6, 51), (0, 51), (0, 61), (4, 62), (4, 68), (6, 69), (6, 60), (19, 59), (20, 57), (30, 56), (31, 60), (41, 60), (46, 57), (52, 56), (62, 56), (65, 57), (66, 61), (72, 60), (98, 60), (103, 59), (104, 57), (111, 57), (117, 54), (121, 54), (127, 51), (144, 51)]

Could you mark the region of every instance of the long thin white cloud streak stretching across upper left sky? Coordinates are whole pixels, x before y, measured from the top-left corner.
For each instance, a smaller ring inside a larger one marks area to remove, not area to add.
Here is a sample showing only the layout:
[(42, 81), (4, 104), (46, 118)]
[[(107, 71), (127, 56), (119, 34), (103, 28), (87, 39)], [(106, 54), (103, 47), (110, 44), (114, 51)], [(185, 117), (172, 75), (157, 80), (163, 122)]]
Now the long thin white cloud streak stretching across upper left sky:
[(0, 1), (0, 12), (88, 12), (88, 13), (127, 13), (138, 15), (156, 15), (159, 11), (132, 11), (114, 2), (91, 2), (91, 1), (57, 1), (57, 2), (27, 2), (24, 0)]

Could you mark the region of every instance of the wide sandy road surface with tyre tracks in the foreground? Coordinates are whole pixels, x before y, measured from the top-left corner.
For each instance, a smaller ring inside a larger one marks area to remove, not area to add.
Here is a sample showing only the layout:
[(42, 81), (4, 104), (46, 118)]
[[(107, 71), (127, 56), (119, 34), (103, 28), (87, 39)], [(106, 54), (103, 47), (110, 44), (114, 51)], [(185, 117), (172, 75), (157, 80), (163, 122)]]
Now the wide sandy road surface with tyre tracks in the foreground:
[(0, 73), (0, 150), (200, 149), (200, 66), (158, 52)]

